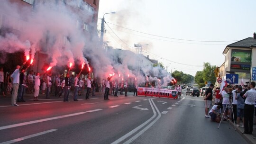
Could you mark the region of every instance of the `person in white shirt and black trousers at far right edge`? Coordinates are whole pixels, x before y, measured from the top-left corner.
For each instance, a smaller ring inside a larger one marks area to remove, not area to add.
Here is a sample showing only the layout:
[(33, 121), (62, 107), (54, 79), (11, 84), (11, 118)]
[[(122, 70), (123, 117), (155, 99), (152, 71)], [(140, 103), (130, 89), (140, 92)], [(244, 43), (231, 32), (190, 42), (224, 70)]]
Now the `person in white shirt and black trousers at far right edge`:
[(250, 90), (243, 95), (245, 99), (245, 108), (244, 108), (244, 120), (245, 120), (245, 131), (243, 134), (252, 134), (253, 131), (253, 115), (254, 115), (254, 105), (256, 100), (256, 83), (252, 81), (250, 83)]

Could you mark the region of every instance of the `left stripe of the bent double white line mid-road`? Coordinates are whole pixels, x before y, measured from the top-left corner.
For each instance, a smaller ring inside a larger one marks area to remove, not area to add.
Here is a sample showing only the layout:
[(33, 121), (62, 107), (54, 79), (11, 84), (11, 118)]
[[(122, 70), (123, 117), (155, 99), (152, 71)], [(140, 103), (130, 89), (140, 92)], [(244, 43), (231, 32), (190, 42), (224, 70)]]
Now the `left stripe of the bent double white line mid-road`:
[[(150, 98), (150, 99), (154, 99), (154, 98)], [(150, 117), (148, 120), (146, 120), (146, 122), (144, 122), (143, 124), (141, 124), (140, 126), (137, 126), (135, 129), (133, 129), (132, 131), (130, 131), (129, 133), (127, 133), (126, 135), (123, 135), (122, 137), (120, 137), (118, 140), (114, 141), (111, 144), (119, 144), (121, 143), (123, 140), (125, 140), (126, 138), (128, 138), (130, 135), (133, 135), (134, 133), (136, 133), (139, 129), (141, 129), (143, 126), (145, 126), (146, 124), (148, 124), (153, 118), (156, 117), (156, 112), (155, 112), (155, 108), (153, 108), (152, 102), (151, 100), (148, 100), (150, 103), (150, 106), (153, 110), (153, 116)]]

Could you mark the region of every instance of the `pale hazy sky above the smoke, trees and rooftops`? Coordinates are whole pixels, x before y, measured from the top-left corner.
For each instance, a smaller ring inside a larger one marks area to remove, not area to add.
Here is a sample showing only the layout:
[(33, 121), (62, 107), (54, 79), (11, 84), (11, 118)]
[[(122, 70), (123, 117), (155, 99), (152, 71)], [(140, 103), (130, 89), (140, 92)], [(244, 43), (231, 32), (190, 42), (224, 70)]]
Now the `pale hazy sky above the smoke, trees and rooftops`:
[(256, 32), (255, 0), (100, 0), (104, 41), (195, 76), (203, 63), (221, 66), (229, 44)]

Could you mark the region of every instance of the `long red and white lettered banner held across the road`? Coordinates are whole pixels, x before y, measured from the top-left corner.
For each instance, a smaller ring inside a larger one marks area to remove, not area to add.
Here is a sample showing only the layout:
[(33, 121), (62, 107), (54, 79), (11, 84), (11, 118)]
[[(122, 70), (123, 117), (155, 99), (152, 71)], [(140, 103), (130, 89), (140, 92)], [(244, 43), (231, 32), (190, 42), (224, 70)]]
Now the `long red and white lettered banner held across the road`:
[(154, 96), (154, 97), (165, 97), (165, 98), (178, 98), (177, 90), (168, 89), (156, 89), (156, 88), (138, 88), (138, 96)]

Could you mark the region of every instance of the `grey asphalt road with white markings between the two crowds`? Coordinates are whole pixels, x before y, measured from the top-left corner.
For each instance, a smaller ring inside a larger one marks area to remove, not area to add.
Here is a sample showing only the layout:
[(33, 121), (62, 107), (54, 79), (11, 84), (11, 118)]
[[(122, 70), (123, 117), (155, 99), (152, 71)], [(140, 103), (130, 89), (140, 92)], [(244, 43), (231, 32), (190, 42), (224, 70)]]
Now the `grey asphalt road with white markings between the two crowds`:
[(0, 144), (247, 144), (227, 122), (218, 129), (204, 117), (201, 96), (79, 99), (0, 106)]

